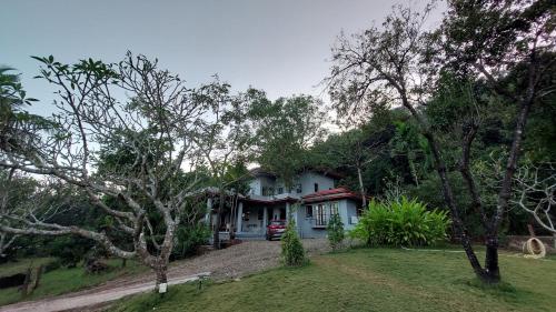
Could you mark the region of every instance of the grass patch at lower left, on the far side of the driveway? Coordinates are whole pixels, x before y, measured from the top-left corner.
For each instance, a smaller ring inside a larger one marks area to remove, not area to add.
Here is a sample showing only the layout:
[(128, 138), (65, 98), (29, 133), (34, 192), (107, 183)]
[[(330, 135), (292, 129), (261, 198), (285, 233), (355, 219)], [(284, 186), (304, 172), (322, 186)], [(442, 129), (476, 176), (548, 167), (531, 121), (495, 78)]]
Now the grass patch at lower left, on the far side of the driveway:
[[(46, 260), (44, 260), (46, 261)], [(23, 265), (24, 262), (27, 265)], [(20, 261), (18, 263), (7, 263), (0, 265), (0, 272), (19, 272), (16, 268), (23, 268), (23, 272), (27, 271), (29, 266), (28, 260)], [(36, 260), (33, 265), (38, 265)], [(139, 272), (147, 271), (148, 269), (139, 264), (137, 261), (128, 261), (126, 268), (120, 268), (121, 260), (109, 260), (108, 264), (110, 270), (100, 274), (88, 274), (85, 272), (82, 266), (77, 266), (72, 269), (60, 268), (50, 272), (42, 274), (39, 286), (32, 292), (32, 294), (24, 298), (21, 296), (21, 292), (18, 288), (1, 289), (0, 290), (0, 305), (14, 303), (18, 301), (37, 300), (46, 296), (52, 296), (58, 294), (63, 294), (68, 292), (73, 292), (87, 288), (91, 288), (101, 284), (106, 281), (130, 274), (137, 274)]]

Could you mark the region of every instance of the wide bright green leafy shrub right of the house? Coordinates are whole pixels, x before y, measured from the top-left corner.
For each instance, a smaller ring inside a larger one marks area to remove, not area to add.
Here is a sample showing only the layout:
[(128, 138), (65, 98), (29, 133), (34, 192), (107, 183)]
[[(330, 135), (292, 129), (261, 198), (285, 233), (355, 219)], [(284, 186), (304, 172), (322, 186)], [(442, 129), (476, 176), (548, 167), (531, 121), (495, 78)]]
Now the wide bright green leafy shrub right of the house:
[(446, 211), (429, 211), (426, 204), (401, 197), (373, 200), (350, 235), (368, 245), (431, 245), (446, 239), (449, 224)]

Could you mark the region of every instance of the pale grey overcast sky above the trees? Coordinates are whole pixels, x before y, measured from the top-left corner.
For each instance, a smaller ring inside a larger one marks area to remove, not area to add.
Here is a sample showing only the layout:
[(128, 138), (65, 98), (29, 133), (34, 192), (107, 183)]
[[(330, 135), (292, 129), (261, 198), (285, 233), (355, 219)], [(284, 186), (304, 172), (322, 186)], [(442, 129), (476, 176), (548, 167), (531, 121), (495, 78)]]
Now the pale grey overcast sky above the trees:
[[(418, 1), (416, 1), (418, 2)], [(388, 0), (6, 0), (0, 4), (0, 64), (22, 72), (30, 97), (49, 104), (51, 90), (33, 80), (37, 61), (53, 54), (119, 61), (127, 50), (158, 58), (196, 87), (218, 73), (235, 90), (269, 98), (321, 94), (330, 47), (381, 21)], [(439, 19), (437, 12), (433, 19)], [(44, 109), (44, 108), (42, 108)], [(41, 110), (41, 109), (40, 109)]]

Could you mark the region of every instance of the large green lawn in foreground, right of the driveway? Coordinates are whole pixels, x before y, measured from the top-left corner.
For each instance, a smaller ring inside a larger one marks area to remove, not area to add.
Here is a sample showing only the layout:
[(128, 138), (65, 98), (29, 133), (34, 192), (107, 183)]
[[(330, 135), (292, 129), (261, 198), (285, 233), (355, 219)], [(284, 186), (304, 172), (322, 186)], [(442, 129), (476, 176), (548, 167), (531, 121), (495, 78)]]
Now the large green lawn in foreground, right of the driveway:
[(171, 286), (113, 311), (554, 311), (555, 260), (503, 253), (500, 265), (504, 282), (486, 286), (463, 253), (356, 249), (202, 290)]

